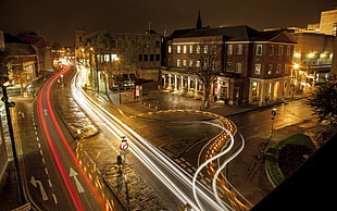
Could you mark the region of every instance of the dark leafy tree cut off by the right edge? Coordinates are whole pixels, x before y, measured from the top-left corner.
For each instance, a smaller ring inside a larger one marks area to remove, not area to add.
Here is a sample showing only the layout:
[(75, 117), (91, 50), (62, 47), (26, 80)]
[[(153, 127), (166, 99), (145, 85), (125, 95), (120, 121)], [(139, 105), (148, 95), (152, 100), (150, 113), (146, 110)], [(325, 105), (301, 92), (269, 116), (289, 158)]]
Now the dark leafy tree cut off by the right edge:
[(328, 121), (337, 124), (337, 83), (326, 83), (314, 91), (309, 98), (308, 104), (317, 114), (320, 122)]

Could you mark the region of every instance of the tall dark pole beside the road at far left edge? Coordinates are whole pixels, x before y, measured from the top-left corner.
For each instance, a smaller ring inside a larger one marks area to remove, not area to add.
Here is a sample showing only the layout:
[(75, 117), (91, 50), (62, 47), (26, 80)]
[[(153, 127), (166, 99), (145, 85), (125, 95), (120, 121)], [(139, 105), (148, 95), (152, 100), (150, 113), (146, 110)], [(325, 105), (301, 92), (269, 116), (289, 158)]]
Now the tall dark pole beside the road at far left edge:
[(15, 176), (16, 176), (16, 181), (17, 181), (18, 202), (22, 203), (23, 202), (22, 201), (23, 183), (22, 183), (21, 176), (20, 176), (18, 159), (17, 159), (17, 153), (16, 153), (14, 133), (13, 133), (13, 126), (12, 126), (12, 119), (11, 119), (11, 111), (10, 111), (10, 108), (14, 108), (15, 103), (9, 101), (9, 96), (7, 94), (7, 88), (4, 85), (2, 85), (2, 95), (3, 95), (3, 97), (1, 98), (1, 100), (4, 103), (7, 122), (8, 122), (8, 126), (9, 126), (9, 134), (10, 134), (10, 138), (11, 138), (11, 144), (12, 144), (14, 170), (15, 170)]

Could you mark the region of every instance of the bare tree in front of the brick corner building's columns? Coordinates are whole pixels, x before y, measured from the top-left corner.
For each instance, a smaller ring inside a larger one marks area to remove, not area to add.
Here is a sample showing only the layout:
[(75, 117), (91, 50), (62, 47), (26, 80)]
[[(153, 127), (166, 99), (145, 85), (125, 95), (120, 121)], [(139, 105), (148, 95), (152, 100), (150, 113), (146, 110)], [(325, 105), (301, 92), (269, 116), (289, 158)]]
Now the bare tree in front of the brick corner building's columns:
[(198, 50), (196, 54), (197, 65), (189, 70), (190, 74), (197, 75), (203, 84), (203, 107), (210, 108), (210, 91), (212, 83), (216, 75), (220, 74), (220, 57), (222, 47), (220, 45), (211, 44), (203, 45), (202, 50)]

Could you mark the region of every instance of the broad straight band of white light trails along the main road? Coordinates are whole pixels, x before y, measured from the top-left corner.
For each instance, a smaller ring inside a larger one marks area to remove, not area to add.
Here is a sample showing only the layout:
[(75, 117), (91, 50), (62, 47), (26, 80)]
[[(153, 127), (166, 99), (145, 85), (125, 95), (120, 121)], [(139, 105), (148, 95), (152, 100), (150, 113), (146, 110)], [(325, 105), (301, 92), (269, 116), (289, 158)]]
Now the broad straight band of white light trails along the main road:
[[(88, 113), (93, 112), (102, 122), (107, 124), (107, 129), (114, 136), (121, 137), (128, 135), (130, 151), (141, 161), (165, 186), (183, 202), (189, 203), (194, 210), (199, 210), (192, 197), (188, 196), (191, 193), (192, 183), (190, 176), (171, 161), (165, 154), (157, 150), (146, 139), (135, 133), (127, 125), (108, 112), (104, 108), (92, 100), (82, 88), (84, 85), (85, 75), (84, 69), (78, 69), (77, 74), (72, 82), (72, 95), (78, 104)], [(179, 184), (176, 184), (178, 183)], [(196, 181), (194, 182), (196, 184)], [(188, 189), (185, 190), (184, 188)], [(208, 189), (198, 188), (199, 195), (208, 202), (212, 210), (222, 210), (213, 199), (213, 194)], [(229, 207), (229, 206), (228, 206)]]

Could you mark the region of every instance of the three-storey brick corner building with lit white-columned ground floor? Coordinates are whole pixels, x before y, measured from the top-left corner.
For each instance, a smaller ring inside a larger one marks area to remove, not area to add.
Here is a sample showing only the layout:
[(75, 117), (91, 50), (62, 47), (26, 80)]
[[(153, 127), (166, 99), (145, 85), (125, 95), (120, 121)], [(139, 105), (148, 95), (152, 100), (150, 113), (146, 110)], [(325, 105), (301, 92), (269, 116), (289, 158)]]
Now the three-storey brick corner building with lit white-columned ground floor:
[[(202, 98), (203, 85), (189, 69), (198, 54), (220, 48), (211, 96), (228, 104), (264, 105), (290, 96), (295, 41), (286, 30), (259, 32), (249, 26), (175, 30), (166, 42), (163, 89)], [(199, 57), (200, 58), (200, 57)]]

